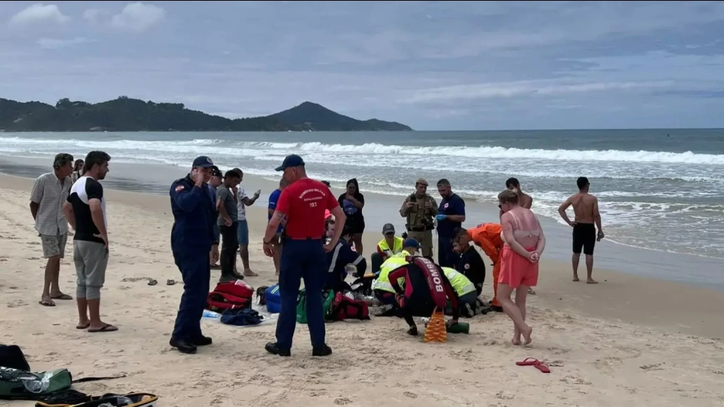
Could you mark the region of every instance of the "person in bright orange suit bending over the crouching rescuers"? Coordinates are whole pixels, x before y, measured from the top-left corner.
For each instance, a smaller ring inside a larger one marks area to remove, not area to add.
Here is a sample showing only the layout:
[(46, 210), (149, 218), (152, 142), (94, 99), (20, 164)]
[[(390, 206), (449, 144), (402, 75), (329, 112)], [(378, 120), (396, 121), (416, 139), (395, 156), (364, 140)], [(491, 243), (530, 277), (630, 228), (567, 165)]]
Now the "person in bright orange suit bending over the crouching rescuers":
[(500, 258), (498, 254), (503, 246), (503, 241), (500, 238), (501, 232), (502, 226), (500, 226), (499, 223), (483, 223), (468, 230), (460, 227), (460, 229), (455, 232), (455, 238), (453, 240), (457, 243), (456, 247), (458, 247), (462, 258), (465, 257), (465, 252), (471, 248), (470, 242), (472, 241), (492, 260), (493, 301), (491, 305), (495, 311), (502, 310), (500, 303), (497, 301), (497, 283), (500, 274)]

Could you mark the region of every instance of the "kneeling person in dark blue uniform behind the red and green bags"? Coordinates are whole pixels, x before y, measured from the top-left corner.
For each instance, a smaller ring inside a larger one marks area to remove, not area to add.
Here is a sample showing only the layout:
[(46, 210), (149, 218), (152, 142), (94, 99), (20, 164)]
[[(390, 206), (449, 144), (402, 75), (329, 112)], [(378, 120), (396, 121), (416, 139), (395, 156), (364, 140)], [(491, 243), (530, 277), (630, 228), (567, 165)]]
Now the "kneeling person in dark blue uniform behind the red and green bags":
[(350, 239), (353, 235), (353, 227), (345, 225), (342, 229), (342, 237), (334, 246), (334, 250), (327, 252), (327, 277), (324, 282), (324, 290), (332, 290), (335, 293), (351, 291), (350, 285), (345, 282), (347, 277), (347, 266), (352, 264), (356, 269), (355, 277), (362, 277), (367, 269), (366, 259), (357, 253)]

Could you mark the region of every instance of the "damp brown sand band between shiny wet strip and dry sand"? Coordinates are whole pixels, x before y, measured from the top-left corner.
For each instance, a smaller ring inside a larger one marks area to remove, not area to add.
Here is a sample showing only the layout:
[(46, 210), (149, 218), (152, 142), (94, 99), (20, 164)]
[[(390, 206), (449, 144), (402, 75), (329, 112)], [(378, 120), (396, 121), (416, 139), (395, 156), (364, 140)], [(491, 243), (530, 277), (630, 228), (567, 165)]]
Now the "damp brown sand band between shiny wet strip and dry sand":
[[(32, 180), (27, 177), (0, 174), (0, 190), (29, 193), (32, 185)], [(248, 193), (250, 190), (248, 188)], [(121, 204), (151, 211), (157, 217), (166, 219), (167, 231), (170, 232), (172, 217), (167, 196), (111, 188), (106, 191), (109, 206)], [(261, 205), (247, 207), (250, 262), (253, 269), (256, 269), (256, 264), (251, 261), (252, 252), (260, 257), (261, 264), (271, 264), (271, 260), (261, 253), (260, 243), (266, 227), (266, 201), (262, 202), (260, 198), (258, 204)], [(113, 227), (109, 229), (111, 238), (114, 238)], [(363, 235), (367, 257), (378, 241), (378, 235), (374, 233)], [(169, 243), (165, 241), (160, 249), (170, 253)], [(481, 256), (484, 261), (488, 261), (484, 254)], [(540, 265), (541, 277), (534, 298), (541, 306), (559, 311), (582, 312), (589, 317), (620, 324), (643, 324), (689, 335), (724, 337), (724, 325), (715, 322), (724, 312), (724, 293), (720, 291), (599, 268), (594, 270), (594, 278), (599, 284), (586, 285), (583, 281), (571, 281), (570, 264), (544, 258)], [(492, 267), (486, 268), (483, 295), (492, 298)], [(581, 272), (585, 274), (584, 269), (579, 268), (578, 272), (579, 275)], [(719, 306), (712, 306), (715, 304)]]

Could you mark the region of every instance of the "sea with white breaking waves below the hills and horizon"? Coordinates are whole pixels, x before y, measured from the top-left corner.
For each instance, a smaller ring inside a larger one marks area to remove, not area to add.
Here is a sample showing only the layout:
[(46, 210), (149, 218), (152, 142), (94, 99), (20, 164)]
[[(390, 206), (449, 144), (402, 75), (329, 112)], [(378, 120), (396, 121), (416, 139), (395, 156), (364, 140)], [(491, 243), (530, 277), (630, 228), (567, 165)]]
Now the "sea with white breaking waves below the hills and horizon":
[(312, 177), (361, 192), (404, 196), (414, 181), (447, 178), (468, 201), (493, 207), (508, 177), (558, 217), (589, 177), (607, 240), (724, 259), (724, 130), (545, 130), (370, 133), (0, 133), (0, 154), (36, 156), (101, 149), (114, 162), (188, 166), (208, 155), (219, 167), (277, 179), (300, 154)]

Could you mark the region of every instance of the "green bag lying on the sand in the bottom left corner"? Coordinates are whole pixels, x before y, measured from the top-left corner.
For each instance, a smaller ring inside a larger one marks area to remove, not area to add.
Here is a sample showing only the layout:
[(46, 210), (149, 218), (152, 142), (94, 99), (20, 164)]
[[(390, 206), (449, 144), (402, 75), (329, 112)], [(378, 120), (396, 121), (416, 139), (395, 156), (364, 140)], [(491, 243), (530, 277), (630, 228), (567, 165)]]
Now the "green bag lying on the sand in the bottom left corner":
[(70, 389), (68, 369), (32, 373), (0, 366), (0, 400), (38, 400), (39, 395)]

